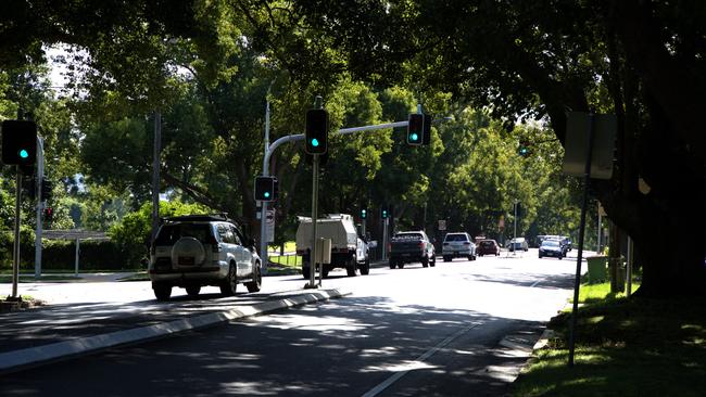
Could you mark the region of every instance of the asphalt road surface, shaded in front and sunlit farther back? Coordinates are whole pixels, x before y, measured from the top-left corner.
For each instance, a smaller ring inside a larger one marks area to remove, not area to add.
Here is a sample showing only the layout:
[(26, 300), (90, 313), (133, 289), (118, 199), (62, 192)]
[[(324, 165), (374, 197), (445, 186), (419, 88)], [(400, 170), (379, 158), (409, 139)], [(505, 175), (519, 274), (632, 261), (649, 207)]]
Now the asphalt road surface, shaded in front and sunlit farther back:
[(576, 266), (504, 255), (333, 271), (324, 286), (352, 295), (8, 374), (0, 395), (503, 395), (570, 296)]

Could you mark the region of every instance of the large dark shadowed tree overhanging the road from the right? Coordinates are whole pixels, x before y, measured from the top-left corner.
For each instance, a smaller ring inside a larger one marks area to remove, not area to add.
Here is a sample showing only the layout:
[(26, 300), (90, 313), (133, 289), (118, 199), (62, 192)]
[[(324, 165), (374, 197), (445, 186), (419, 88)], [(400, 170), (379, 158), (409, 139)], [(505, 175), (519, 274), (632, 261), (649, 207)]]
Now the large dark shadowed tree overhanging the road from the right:
[[(400, 73), (489, 106), (508, 123), (546, 117), (564, 143), (566, 111), (618, 116), (615, 176), (593, 181), (635, 242), (650, 296), (703, 294), (706, 246), (664, 249), (665, 231), (704, 241), (706, 7), (664, 1), (298, 2), (356, 76)], [(391, 27), (415, 26), (415, 29)], [(642, 178), (651, 188), (638, 190)]]

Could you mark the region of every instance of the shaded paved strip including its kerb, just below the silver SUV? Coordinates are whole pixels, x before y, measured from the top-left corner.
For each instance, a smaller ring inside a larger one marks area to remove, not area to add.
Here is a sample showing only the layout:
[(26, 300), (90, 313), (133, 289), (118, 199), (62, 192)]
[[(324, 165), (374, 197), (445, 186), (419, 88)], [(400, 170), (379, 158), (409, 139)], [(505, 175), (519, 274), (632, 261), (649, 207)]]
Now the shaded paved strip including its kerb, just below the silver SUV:
[(348, 295), (336, 289), (166, 303), (58, 304), (0, 315), (0, 374)]

